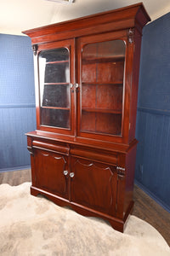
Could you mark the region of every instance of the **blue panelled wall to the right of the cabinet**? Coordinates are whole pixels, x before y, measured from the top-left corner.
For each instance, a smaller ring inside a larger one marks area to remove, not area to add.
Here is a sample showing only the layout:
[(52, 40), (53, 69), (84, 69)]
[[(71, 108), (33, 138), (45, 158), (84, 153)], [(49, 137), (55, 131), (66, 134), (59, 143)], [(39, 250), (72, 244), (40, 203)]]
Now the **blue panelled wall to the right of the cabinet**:
[(136, 181), (170, 211), (170, 13), (144, 27), (136, 137)]

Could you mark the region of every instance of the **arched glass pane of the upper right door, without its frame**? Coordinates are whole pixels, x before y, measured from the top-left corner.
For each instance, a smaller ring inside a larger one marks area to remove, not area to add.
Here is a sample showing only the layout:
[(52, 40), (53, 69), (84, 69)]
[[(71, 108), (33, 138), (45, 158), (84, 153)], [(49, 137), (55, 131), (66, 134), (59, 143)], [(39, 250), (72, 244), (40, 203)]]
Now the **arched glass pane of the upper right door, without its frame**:
[(122, 40), (82, 49), (82, 131), (121, 135), (125, 50)]

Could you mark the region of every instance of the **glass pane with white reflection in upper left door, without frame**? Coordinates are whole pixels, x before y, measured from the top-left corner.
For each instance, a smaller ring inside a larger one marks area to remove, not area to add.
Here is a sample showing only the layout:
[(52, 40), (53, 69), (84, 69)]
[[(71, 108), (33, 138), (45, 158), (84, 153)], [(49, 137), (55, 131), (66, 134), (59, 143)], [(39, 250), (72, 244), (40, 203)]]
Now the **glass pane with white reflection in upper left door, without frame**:
[(38, 55), (41, 125), (70, 128), (70, 57), (67, 48)]

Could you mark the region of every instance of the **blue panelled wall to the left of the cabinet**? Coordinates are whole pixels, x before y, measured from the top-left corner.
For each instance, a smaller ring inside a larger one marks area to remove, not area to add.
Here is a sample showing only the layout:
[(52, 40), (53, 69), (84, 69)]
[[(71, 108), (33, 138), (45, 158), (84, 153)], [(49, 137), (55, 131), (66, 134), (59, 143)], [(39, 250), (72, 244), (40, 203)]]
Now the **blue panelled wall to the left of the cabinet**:
[(0, 34), (0, 172), (30, 166), (25, 133), (35, 129), (31, 39)]

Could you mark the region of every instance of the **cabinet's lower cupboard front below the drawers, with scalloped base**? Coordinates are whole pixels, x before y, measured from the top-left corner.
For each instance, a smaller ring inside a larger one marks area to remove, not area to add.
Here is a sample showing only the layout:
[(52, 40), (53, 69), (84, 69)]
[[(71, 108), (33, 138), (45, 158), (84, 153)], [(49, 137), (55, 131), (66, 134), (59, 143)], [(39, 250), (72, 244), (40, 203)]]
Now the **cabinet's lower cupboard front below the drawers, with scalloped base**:
[(82, 215), (105, 218), (114, 229), (123, 231), (133, 201), (125, 214), (125, 174), (117, 170), (116, 165), (98, 160), (33, 148), (31, 195), (42, 194)]

